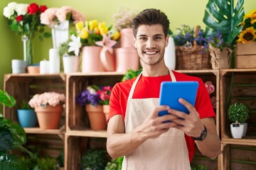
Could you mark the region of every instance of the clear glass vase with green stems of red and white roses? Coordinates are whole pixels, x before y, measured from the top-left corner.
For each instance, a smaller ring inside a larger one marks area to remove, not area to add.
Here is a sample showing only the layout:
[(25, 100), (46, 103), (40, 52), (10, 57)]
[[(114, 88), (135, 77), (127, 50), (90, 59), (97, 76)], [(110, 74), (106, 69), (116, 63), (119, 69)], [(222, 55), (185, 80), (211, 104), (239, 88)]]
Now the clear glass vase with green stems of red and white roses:
[(27, 65), (33, 63), (33, 39), (28, 38), (27, 35), (23, 35), (23, 60), (27, 62)]

